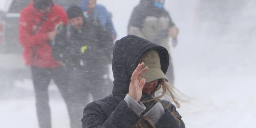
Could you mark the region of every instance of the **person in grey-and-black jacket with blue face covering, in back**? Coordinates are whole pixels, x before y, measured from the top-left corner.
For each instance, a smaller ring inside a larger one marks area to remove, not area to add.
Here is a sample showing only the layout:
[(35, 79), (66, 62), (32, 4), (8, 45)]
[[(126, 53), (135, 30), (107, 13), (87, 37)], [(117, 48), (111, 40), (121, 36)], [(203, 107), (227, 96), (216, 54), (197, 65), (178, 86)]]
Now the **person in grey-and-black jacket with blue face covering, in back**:
[[(128, 25), (128, 34), (137, 35), (165, 47), (170, 53), (169, 37), (177, 45), (178, 28), (172, 22), (164, 6), (165, 0), (141, 0), (133, 9)], [(167, 72), (170, 84), (174, 84), (174, 71), (170, 57)]]

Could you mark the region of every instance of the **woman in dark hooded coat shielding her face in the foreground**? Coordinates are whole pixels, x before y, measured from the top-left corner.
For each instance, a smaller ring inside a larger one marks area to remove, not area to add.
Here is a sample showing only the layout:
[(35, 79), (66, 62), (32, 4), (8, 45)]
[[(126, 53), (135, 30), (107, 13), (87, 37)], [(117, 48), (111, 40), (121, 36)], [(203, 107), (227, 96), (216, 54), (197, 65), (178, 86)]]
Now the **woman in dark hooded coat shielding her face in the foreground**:
[[(169, 94), (180, 106), (164, 75), (168, 65), (162, 46), (134, 35), (117, 40), (112, 94), (86, 105), (83, 128), (185, 128), (175, 105), (159, 99)], [(159, 89), (163, 91), (156, 96)]]

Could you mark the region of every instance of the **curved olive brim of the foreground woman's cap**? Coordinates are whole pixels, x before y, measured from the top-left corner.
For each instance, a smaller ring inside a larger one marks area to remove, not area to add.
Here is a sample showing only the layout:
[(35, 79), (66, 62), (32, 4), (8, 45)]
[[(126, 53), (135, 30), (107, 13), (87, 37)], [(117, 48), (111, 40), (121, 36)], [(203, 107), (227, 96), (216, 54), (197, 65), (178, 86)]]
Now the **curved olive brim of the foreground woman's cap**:
[(158, 67), (149, 67), (148, 70), (140, 78), (145, 78), (146, 83), (156, 79), (165, 79), (167, 82), (169, 81), (166, 75), (164, 75), (163, 71)]

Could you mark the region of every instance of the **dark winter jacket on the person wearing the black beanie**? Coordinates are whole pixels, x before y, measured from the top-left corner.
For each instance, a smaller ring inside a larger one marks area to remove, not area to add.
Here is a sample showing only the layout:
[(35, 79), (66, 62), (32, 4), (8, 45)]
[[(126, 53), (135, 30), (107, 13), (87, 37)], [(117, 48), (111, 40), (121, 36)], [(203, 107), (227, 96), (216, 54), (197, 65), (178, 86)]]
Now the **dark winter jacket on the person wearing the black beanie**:
[(111, 34), (101, 25), (83, 19), (81, 31), (69, 24), (58, 33), (53, 46), (54, 57), (72, 67), (81, 67), (89, 62), (110, 63), (113, 48)]

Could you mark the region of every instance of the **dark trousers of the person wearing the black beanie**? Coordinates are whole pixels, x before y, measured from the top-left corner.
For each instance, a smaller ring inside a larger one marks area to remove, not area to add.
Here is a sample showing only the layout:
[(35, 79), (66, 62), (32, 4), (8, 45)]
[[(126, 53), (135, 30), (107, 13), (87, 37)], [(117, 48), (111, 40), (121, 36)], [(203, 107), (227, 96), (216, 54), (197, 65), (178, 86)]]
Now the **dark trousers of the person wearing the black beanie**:
[[(81, 128), (83, 110), (90, 100), (99, 100), (111, 94), (113, 82), (108, 77), (108, 67), (90, 60), (86, 66), (70, 68), (71, 128)], [(92, 96), (92, 99), (90, 99)]]

